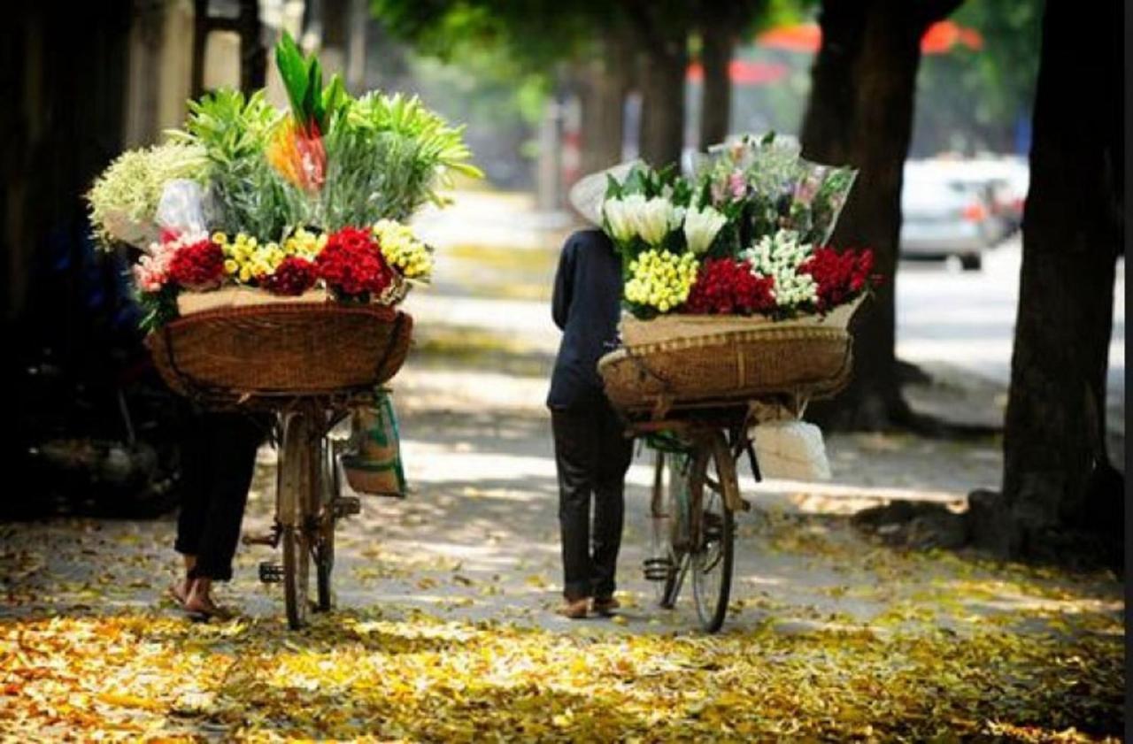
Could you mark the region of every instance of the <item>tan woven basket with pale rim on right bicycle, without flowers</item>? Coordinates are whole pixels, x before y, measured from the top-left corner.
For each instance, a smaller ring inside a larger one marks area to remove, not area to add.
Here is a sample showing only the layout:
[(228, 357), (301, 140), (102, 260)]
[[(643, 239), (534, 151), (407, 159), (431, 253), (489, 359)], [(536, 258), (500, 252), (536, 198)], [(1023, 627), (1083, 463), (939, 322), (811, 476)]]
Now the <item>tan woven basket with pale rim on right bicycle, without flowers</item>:
[(673, 323), (667, 336), (653, 331), (650, 342), (604, 356), (598, 373), (611, 403), (627, 412), (664, 416), (673, 409), (742, 404), (783, 394), (825, 397), (849, 383), (849, 316), (844, 322), (813, 324), (722, 320), (715, 333), (710, 325), (700, 324), (692, 332)]

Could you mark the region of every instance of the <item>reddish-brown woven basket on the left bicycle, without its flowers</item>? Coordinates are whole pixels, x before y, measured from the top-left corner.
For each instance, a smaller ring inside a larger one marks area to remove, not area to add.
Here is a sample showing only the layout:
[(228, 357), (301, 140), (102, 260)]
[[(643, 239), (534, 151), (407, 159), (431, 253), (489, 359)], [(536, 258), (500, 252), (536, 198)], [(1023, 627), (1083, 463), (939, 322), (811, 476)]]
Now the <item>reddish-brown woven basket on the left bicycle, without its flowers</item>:
[(205, 310), (151, 333), (162, 377), (208, 399), (373, 388), (409, 352), (412, 317), (385, 306), (282, 303)]

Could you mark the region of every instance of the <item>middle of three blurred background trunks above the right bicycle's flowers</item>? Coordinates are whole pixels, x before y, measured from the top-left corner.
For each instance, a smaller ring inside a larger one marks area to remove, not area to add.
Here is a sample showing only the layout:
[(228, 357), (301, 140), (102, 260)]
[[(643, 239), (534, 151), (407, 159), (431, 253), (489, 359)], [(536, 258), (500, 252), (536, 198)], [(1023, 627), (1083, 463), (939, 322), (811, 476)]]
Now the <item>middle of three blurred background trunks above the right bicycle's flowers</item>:
[(641, 157), (654, 168), (680, 164), (684, 148), (684, 37), (647, 46), (641, 68)]

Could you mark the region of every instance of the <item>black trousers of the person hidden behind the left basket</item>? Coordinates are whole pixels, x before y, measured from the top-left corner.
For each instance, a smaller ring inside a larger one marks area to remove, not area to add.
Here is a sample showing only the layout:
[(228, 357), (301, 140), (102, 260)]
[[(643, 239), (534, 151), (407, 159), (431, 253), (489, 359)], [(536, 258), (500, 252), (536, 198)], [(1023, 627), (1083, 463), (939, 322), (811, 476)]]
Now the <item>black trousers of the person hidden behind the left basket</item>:
[(244, 413), (189, 417), (182, 450), (181, 512), (173, 547), (182, 555), (197, 557), (190, 578), (232, 578), (232, 556), (265, 425)]

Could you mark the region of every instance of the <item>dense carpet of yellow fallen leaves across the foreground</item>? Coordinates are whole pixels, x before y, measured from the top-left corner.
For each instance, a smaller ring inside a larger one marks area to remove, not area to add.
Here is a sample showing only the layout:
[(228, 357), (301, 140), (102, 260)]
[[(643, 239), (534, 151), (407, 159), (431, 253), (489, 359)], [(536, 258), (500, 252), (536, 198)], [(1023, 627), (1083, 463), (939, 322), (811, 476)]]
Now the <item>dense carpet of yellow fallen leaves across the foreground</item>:
[(704, 638), (378, 610), (326, 617), (303, 634), (269, 619), (67, 617), (6, 625), (0, 710), (14, 735), (60, 738), (1116, 735), (1119, 641), (1105, 635), (1108, 624), (1089, 625), (1075, 639), (998, 624), (790, 634), (764, 625)]

